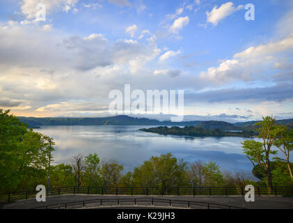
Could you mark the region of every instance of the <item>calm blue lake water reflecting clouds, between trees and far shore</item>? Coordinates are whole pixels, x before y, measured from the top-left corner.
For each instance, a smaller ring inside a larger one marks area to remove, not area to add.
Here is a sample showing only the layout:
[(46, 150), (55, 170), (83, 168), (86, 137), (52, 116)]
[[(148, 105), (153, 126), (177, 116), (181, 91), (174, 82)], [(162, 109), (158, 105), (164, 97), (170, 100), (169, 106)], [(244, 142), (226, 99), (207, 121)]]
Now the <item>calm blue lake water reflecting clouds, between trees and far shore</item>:
[(54, 163), (69, 163), (72, 156), (97, 153), (101, 159), (115, 159), (125, 171), (138, 167), (152, 155), (172, 153), (186, 162), (212, 160), (222, 170), (251, 171), (251, 162), (241, 151), (243, 137), (177, 137), (142, 132), (152, 126), (42, 126), (38, 132), (53, 137)]

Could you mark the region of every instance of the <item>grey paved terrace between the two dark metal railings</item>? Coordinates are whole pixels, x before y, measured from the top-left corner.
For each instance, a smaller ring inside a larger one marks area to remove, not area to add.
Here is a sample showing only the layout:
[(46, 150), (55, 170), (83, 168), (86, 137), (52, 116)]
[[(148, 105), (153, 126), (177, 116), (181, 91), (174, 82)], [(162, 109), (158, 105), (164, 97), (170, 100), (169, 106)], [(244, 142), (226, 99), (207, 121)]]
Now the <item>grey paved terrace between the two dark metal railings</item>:
[[(54, 205), (58, 203), (67, 203), (72, 201), (86, 201), (90, 199), (134, 199), (134, 198), (142, 198), (143, 196), (113, 196), (113, 195), (83, 195), (83, 194), (70, 194), (70, 195), (61, 195), (61, 196), (52, 196), (47, 197), (46, 202), (37, 202), (35, 199), (28, 199), (22, 201), (15, 201), (13, 203), (9, 203), (3, 208), (6, 209), (29, 209), (36, 208), (40, 206)], [(237, 206), (244, 207), (248, 209), (293, 209), (293, 197), (280, 197), (280, 196), (255, 196), (255, 202), (246, 202), (244, 201), (244, 197), (242, 196), (148, 196), (148, 198), (157, 198), (157, 199), (168, 199), (168, 200), (182, 200), (182, 201), (198, 201), (205, 203), (219, 203), (226, 206)], [(145, 198), (145, 197), (144, 197)], [(121, 205), (121, 204), (120, 204)], [(154, 207), (150, 206), (150, 203), (138, 203), (138, 206), (134, 206), (133, 203), (122, 203), (125, 205), (125, 208), (142, 208), (141, 205), (144, 205), (145, 208), (156, 208), (155, 206), (168, 206), (168, 203), (162, 203), (162, 205), (155, 204)], [(106, 205), (107, 207), (102, 208), (124, 208), (123, 206), (117, 206), (116, 202), (109, 203)], [(81, 208), (82, 205), (72, 206), (69, 208)], [(86, 208), (100, 207), (98, 203), (90, 203), (86, 205)], [(157, 207), (158, 208), (158, 207)], [(187, 208), (187, 206), (182, 206), (181, 208)], [(205, 206), (196, 206), (193, 208), (203, 208)]]

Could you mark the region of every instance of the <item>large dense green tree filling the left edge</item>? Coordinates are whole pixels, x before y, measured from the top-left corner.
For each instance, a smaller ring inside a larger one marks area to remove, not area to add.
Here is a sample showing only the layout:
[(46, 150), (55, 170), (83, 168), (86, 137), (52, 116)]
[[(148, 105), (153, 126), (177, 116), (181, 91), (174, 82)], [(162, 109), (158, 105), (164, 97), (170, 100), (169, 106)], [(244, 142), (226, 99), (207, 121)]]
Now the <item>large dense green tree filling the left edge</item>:
[(49, 140), (54, 145), (52, 138), (27, 129), (26, 124), (9, 112), (0, 109), (0, 192), (6, 193), (27, 189), (33, 178), (44, 183)]

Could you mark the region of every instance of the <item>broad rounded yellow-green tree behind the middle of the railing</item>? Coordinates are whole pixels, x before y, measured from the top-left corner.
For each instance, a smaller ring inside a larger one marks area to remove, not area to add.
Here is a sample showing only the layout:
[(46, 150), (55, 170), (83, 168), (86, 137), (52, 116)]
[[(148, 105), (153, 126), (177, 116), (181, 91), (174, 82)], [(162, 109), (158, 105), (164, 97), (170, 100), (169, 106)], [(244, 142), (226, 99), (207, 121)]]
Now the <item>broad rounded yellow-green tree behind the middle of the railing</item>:
[(143, 187), (162, 187), (164, 190), (187, 185), (187, 163), (177, 161), (171, 153), (151, 157), (134, 169), (134, 183)]

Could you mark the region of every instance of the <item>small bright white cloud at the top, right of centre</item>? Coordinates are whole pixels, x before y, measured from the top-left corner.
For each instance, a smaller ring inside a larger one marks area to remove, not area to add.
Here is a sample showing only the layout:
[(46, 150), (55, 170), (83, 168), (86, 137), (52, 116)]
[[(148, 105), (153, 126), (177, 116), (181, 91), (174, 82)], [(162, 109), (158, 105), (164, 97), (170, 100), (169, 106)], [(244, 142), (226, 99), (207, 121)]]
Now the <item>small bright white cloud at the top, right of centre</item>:
[(214, 24), (216, 26), (221, 20), (225, 19), (232, 13), (235, 13), (237, 10), (244, 8), (244, 6), (240, 5), (237, 8), (233, 6), (233, 3), (227, 2), (223, 3), (219, 8), (214, 6), (211, 12), (207, 13), (207, 22)]

